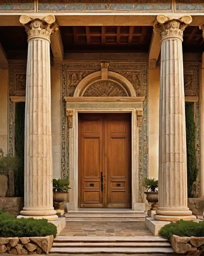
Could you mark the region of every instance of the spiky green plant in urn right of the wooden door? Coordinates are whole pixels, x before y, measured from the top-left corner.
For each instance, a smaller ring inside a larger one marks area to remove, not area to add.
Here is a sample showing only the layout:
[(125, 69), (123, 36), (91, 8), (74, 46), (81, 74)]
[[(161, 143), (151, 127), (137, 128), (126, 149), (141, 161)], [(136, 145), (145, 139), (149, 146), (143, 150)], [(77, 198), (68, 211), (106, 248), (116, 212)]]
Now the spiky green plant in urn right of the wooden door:
[(144, 187), (147, 188), (145, 194), (147, 195), (146, 199), (149, 204), (151, 204), (151, 210), (157, 209), (157, 202), (158, 202), (158, 180), (155, 178), (144, 178)]

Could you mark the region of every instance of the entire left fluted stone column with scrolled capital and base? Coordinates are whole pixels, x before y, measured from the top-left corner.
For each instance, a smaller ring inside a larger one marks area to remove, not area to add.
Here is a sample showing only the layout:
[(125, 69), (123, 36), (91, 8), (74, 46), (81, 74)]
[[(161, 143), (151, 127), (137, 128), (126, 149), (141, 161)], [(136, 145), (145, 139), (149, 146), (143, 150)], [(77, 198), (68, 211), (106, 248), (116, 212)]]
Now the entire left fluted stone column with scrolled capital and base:
[(20, 16), (28, 34), (25, 112), (25, 206), (18, 218), (56, 220), (53, 208), (50, 36), (55, 17)]

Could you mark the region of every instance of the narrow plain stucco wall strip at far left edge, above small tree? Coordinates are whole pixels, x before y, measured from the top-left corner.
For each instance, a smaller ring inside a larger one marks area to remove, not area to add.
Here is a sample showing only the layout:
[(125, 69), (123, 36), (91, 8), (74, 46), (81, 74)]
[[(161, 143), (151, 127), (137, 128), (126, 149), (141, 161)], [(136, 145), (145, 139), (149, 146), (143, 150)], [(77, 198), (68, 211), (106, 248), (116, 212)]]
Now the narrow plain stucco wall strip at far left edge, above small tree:
[(8, 152), (8, 70), (0, 69), (0, 148)]

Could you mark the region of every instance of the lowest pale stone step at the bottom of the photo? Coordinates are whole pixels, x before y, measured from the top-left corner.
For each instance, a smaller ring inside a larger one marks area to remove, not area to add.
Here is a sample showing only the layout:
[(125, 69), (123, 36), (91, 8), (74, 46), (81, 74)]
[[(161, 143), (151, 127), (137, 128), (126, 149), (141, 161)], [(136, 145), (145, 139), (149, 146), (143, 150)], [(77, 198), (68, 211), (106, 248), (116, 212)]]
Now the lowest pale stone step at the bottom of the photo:
[(173, 253), (171, 247), (52, 247), (50, 253)]

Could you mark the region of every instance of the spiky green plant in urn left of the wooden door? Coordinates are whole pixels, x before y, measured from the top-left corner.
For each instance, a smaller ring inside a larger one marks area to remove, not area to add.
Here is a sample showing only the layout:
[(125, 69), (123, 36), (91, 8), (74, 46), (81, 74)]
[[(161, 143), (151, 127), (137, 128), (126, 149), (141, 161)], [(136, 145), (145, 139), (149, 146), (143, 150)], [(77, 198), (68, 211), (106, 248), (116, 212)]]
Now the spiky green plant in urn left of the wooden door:
[(53, 204), (56, 210), (64, 209), (64, 203), (70, 189), (69, 179), (53, 179)]

